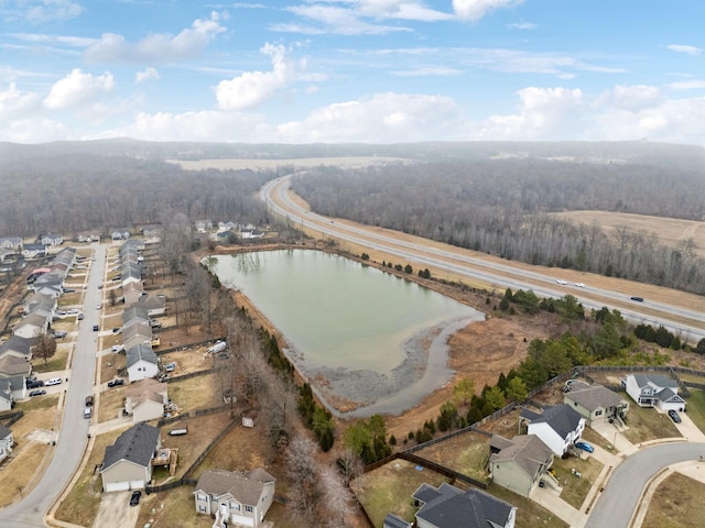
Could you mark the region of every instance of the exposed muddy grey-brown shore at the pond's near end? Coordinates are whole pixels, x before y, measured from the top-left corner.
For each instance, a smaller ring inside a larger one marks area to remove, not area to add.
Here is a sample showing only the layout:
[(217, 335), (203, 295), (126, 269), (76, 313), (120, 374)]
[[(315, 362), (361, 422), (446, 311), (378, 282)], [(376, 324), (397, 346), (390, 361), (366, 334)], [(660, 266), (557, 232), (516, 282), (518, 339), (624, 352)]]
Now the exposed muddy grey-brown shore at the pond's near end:
[(448, 339), (467, 324), (482, 320), (485, 315), (478, 314), (445, 321), (417, 333), (404, 343), (405, 359), (389, 374), (311, 366), (292, 350), (284, 352), (334, 416), (400, 415), (453, 377), (454, 372), (448, 369)]

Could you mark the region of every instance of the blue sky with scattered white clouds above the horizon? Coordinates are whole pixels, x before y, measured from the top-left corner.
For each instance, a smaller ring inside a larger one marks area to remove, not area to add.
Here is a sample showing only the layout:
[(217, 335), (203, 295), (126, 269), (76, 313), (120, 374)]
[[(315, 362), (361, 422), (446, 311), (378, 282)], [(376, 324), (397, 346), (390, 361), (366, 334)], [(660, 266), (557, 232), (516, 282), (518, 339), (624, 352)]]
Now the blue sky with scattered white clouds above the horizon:
[(699, 0), (0, 0), (0, 141), (705, 145)]

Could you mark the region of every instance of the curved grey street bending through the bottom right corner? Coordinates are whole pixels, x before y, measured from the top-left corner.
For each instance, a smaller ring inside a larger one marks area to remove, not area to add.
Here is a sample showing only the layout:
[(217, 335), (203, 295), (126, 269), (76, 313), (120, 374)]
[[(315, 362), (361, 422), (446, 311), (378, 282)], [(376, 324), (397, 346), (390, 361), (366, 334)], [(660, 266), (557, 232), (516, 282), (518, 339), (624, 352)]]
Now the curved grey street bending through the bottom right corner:
[(615, 468), (585, 528), (627, 528), (649, 480), (662, 468), (701, 455), (705, 443), (664, 443), (632, 454)]

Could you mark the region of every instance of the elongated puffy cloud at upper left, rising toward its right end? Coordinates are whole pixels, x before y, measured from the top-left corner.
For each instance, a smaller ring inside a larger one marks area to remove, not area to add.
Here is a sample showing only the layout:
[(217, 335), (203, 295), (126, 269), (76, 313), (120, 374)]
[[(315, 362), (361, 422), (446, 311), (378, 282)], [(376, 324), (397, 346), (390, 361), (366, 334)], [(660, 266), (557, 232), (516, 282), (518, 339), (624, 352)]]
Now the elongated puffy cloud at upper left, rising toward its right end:
[(91, 63), (138, 62), (169, 63), (196, 57), (217, 34), (226, 29), (220, 25), (221, 15), (213, 12), (209, 20), (196, 20), (189, 29), (177, 35), (158, 33), (134, 44), (116, 33), (104, 33), (85, 52), (85, 58)]

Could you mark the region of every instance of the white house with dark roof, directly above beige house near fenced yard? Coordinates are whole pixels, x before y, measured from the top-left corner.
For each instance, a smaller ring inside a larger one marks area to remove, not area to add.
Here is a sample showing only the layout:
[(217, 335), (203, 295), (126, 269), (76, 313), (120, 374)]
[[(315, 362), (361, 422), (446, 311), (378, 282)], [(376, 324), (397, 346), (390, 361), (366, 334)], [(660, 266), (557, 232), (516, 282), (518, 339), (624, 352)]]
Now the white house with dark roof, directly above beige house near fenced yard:
[(585, 418), (565, 404), (545, 407), (541, 414), (524, 408), (520, 420), (528, 424), (529, 435), (539, 437), (558, 457), (581, 439), (585, 429)]

